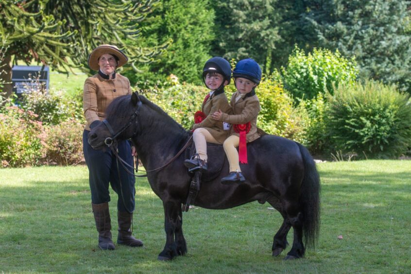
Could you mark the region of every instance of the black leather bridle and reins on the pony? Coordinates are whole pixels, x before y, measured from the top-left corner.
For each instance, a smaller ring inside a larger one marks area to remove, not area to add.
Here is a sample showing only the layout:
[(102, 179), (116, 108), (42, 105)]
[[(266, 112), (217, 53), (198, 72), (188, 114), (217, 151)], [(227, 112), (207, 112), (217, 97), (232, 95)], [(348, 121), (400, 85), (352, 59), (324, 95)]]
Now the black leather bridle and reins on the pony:
[[(133, 166), (129, 165), (124, 159), (122, 159), (118, 153), (117, 150), (117, 142), (116, 142), (116, 138), (120, 136), (121, 133), (123, 133), (127, 128), (129, 128), (133, 123), (134, 120), (136, 120), (136, 118), (138, 117), (139, 114), (139, 109), (141, 107), (141, 101), (138, 101), (138, 105), (136, 110), (134, 111), (134, 113), (131, 115), (130, 120), (128, 121), (128, 123), (126, 125), (124, 125), (117, 133), (114, 133), (113, 128), (111, 127), (110, 123), (107, 120), (103, 120), (104, 125), (107, 127), (108, 131), (111, 134), (111, 137), (107, 137), (104, 139), (104, 144), (113, 152), (114, 155), (116, 155), (117, 159), (120, 160), (120, 164), (122, 165), (122, 167), (125, 169), (125, 171), (127, 171), (129, 174), (136, 176), (136, 177), (147, 177), (147, 174), (144, 175), (137, 175), (134, 174), (132, 172), (130, 172), (125, 166), (134, 169), (135, 171), (143, 171), (143, 170), (139, 170), (134, 168)], [(138, 123), (138, 121), (136, 121), (136, 124)], [(134, 137), (137, 134), (137, 127), (135, 132), (133, 133), (132, 137)], [(183, 146), (183, 148), (175, 155), (173, 156), (169, 161), (167, 161), (166, 164), (164, 164), (163, 166), (156, 168), (154, 170), (149, 170), (149, 171), (144, 171), (144, 172), (152, 172), (152, 171), (158, 171), (161, 170), (163, 168), (165, 168), (166, 166), (168, 166), (169, 164), (171, 164), (171, 162), (173, 162), (178, 156), (180, 156), (180, 154), (182, 154), (187, 147), (190, 145), (192, 140), (192, 135), (188, 138), (187, 143)], [(119, 173), (120, 174), (120, 173)]]

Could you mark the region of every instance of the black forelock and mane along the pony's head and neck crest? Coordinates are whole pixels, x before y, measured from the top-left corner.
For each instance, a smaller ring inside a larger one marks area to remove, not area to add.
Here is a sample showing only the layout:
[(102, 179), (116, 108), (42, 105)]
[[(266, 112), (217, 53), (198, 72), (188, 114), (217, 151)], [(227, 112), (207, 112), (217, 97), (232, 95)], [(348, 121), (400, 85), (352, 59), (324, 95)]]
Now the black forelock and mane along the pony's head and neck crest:
[[(147, 107), (152, 109), (159, 116), (164, 117), (165, 120), (170, 120), (170, 122), (166, 123), (167, 125), (171, 125), (171, 124), (175, 123), (176, 125), (179, 126), (179, 128), (181, 130), (186, 131), (179, 123), (177, 123), (174, 119), (172, 119), (158, 105), (154, 104), (153, 102), (148, 100), (143, 95), (138, 95), (138, 99), (141, 101), (141, 103), (143, 103), (144, 105), (146, 105)], [(124, 95), (124, 96), (120, 96), (120, 97), (114, 99), (113, 102), (109, 104), (109, 106), (107, 107), (107, 109), (105, 111), (106, 117), (109, 117), (109, 116), (113, 115), (114, 113), (116, 113), (117, 109), (121, 109), (122, 113), (133, 113), (135, 106), (133, 104), (131, 104), (130, 101), (131, 101), (131, 95)]]

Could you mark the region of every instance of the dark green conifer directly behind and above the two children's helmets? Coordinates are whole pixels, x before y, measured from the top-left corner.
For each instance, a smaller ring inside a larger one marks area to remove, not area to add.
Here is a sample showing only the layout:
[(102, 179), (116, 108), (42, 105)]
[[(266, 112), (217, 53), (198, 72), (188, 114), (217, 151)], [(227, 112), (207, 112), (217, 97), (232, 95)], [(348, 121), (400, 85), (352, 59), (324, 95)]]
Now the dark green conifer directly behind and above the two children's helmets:
[(213, 54), (227, 59), (253, 58), (270, 72), (272, 55), (281, 37), (277, 0), (214, 1), (216, 39)]

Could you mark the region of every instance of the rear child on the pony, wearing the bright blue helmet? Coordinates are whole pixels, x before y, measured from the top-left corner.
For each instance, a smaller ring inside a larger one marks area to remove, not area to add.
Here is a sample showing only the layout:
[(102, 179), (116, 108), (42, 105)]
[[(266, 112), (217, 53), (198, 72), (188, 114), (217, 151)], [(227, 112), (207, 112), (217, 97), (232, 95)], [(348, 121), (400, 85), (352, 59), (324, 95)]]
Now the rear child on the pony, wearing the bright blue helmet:
[(255, 88), (261, 81), (261, 68), (253, 59), (243, 59), (234, 68), (233, 78), (237, 89), (230, 101), (233, 115), (222, 110), (212, 114), (213, 119), (232, 124), (230, 135), (223, 143), (230, 165), (230, 173), (221, 179), (223, 184), (245, 181), (239, 162), (247, 163), (246, 143), (260, 137), (257, 133), (260, 103)]

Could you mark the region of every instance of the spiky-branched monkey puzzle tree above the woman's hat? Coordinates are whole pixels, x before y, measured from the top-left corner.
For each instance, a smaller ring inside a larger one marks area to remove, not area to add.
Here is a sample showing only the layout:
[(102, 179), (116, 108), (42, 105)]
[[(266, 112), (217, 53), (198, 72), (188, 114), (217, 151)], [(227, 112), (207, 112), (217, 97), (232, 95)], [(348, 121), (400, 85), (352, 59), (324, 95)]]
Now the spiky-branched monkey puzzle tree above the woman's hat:
[[(81, 68), (90, 51), (101, 44), (117, 45), (131, 67), (149, 63), (170, 41), (152, 48), (140, 47), (139, 24), (158, 0), (1, 0), (0, 36), (9, 51), (3, 63), (10, 81), (10, 62), (35, 60), (68, 70), (68, 58)], [(11, 86), (5, 90), (11, 93)]]

